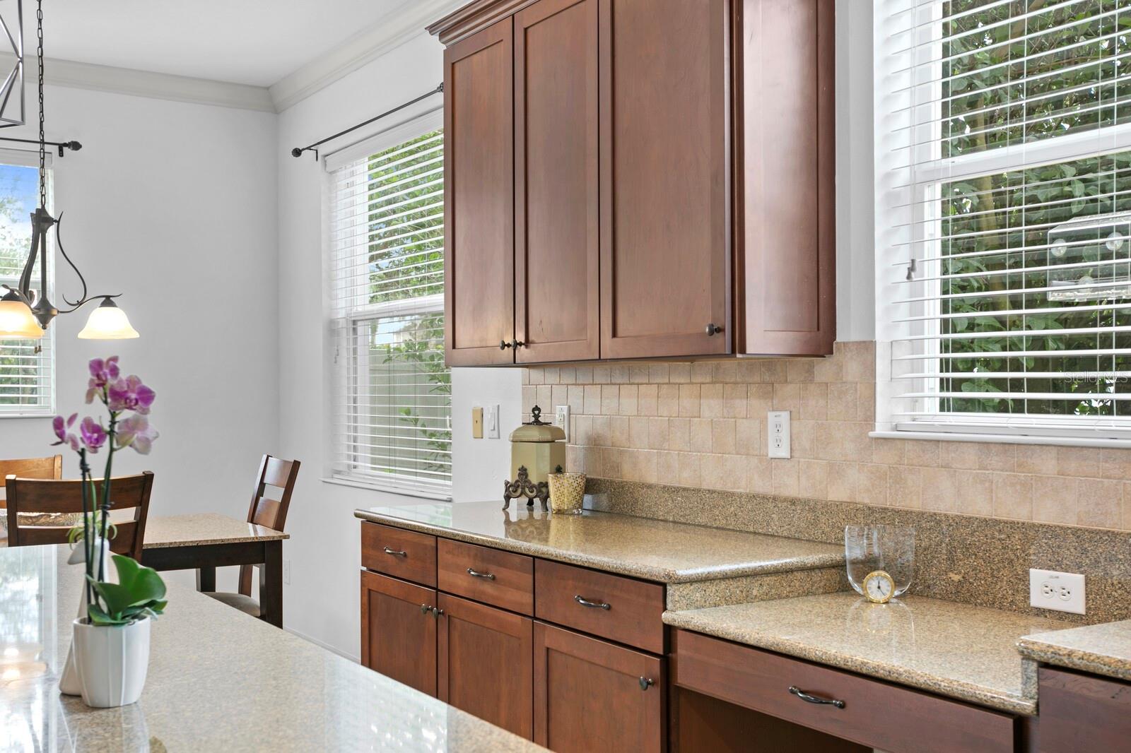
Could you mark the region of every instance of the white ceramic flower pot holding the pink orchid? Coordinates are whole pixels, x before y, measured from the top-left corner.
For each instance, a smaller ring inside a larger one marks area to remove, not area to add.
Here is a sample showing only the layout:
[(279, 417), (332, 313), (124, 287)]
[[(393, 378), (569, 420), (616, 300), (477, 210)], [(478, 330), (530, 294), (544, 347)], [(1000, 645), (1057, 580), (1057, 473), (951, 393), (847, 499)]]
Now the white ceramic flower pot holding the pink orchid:
[(75, 667), (87, 706), (128, 706), (141, 696), (149, 668), (149, 617), (128, 625), (75, 621)]

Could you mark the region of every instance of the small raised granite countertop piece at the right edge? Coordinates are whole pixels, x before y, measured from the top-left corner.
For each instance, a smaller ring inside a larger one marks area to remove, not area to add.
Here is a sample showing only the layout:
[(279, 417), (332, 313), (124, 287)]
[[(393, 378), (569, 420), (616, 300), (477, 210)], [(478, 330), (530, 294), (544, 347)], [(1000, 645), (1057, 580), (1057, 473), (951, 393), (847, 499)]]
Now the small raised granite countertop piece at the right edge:
[(1131, 620), (1025, 635), (1017, 650), (1034, 661), (1131, 681)]

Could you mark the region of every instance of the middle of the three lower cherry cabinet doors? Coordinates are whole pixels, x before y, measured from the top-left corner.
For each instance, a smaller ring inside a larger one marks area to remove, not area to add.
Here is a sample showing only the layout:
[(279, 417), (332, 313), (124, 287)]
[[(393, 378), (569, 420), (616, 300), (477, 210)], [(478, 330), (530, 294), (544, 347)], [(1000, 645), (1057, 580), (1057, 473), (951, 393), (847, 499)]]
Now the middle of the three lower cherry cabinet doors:
[(447, 594), (439, 601), (439, 699), (530, 739), (533, 621)]

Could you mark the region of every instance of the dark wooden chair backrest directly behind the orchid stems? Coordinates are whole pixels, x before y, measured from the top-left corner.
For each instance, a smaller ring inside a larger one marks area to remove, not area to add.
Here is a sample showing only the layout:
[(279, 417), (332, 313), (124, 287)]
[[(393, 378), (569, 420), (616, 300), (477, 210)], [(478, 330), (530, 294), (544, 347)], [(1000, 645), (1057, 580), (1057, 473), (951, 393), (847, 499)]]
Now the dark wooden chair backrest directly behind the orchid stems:
[[(102, 487), (101, 483), (96, 483), (96, 486)], [(10, 475), (5, 478), (5, 487), (8, 492), (8, 546), (67, 543), (67, 533), (72, 528), (70, 521), (60, 523), (50, 518), (81, 516), (81, 481), (48, 481)], [(119, 476), (113, 479), (110, 509), (111, 522), (118, 529), (118, 535), (110, 543), (111, 551), (141, 561), (152, 491), (153, 474), (148, 470), (138, 476)], [(115, 519), (113, 512), (121, 510), (133, 510), (132, 519)], [(33, 520), (28, 521), (28, 518)], [(78, 522), (81, 522), (80, 517)]]

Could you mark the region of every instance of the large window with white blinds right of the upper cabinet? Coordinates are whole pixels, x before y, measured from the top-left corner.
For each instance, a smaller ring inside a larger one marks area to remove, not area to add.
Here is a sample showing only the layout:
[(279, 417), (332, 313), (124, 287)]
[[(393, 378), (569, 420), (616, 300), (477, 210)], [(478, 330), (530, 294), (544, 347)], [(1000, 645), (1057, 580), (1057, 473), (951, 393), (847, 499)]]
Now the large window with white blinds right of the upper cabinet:
[(875, 8), (877, 429), (1131, 439), (1131, 0)]

